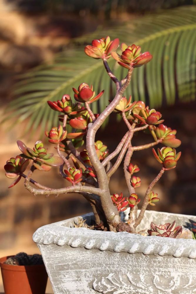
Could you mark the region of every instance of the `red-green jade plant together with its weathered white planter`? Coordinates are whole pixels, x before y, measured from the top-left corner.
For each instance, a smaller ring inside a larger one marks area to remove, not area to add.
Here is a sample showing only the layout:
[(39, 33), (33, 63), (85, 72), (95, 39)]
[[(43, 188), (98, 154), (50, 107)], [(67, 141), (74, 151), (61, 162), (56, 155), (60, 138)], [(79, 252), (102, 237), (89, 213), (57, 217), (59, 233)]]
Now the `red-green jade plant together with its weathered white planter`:
[[(25, 188), (34, 195), (75, 192), (91, 203), (93, 213), (46, 225), (34, 233), (33, 240), (41, 250), (54, 293), (194, 293), (196, 242), (192, 232), (183, 226), (190, 223), (189, 219), (194, 223), (196, 217), (146, 211), (148, 205), (155, 206), (160, 200), (153, 188), (165, 171), (176, 167), (181, 153), (176, 153), (175, 148), (181, 142), (175, 137), (176, 130), (163, 124), (160, 112), (149, 109), (143, 101), (132, 102), (131, 96), (123, 96), (133, 69), (148, 63), (152, 55), (142, 54), (140, 46), (124, 43), (118, 55), (118, 46), (119, 39), (110, 41), (106, 37), (85, 47), (88, 56), (103, 59), (116, 86), (116, 95), (105, 110), (93, 113), (90, 104), (103, 99), (104, 91), (96, 96), (93, 86), (87, 83), (81, 83), (78, 90), (73, 88), (76, 103), (69, 95), (48, 101), (60, 113), (60, 125), (45, 132), (49, 142), (56, 145), (58, 156), (47, 153), (41, 141), (33, 149), (17, 141), (22, 154), (7, 161), (6, 176), (18, 176), (10, 187), (23, 177)], [(110, 70), (110, 57), (128, 70), (122, 80)], [(95, 140), (95, 136), (112, 112), (122, 116), (127, 132), (109, 154), (107, 146)], [(73, 128), (71, 132), (67, 125)], [(151, 135), (153, 142), (132, 146), (132, 137), (138, 131)], [(157, 152), (153, 148), (153, 155), (160, 164), (160, 172), (149, 184), (139, 211), (140, 199), (135, 189), (141, 180), (135, 173), (140, 168), (131, 157), (134, 151), (159, 143), (164, 147)], [(111, 196), (110, 177), (123, 159), (128, 195), (117, 191)], [(24, 171), (30, 161), (32, 165), (26, 175)], [(51, 166), (59, 166), (60, 175), (71, 186), (52, 189), (32, 179), (35, 170), (49, 171)]]

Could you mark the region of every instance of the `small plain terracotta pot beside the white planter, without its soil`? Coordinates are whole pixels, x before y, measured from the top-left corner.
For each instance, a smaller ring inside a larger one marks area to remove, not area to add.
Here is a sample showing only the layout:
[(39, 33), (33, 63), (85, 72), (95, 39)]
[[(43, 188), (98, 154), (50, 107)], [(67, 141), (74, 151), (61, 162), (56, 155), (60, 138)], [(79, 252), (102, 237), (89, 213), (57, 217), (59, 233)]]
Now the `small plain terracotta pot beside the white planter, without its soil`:
[(5, 294), (45, 294), (48, 275), (42, 265), (9, 265), (0, 258)]

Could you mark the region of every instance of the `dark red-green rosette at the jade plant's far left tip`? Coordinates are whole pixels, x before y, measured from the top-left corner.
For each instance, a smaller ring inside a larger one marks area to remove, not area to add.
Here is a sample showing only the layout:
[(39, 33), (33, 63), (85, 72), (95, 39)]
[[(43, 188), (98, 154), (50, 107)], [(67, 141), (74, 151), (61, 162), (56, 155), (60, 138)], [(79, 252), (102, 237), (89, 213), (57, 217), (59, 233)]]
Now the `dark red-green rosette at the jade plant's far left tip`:
[(5, 175), (9, 179), (14, 179), (19, 176), (8, 188), (15, 186), (21, 179), (21, 174), (24, 173), (27, 166), (29, 165), (30, 160), (22, 158), (20, 155), (17, 155), (16, 158), (11, 157), (6, 161), (4, 169), (6, 171)]

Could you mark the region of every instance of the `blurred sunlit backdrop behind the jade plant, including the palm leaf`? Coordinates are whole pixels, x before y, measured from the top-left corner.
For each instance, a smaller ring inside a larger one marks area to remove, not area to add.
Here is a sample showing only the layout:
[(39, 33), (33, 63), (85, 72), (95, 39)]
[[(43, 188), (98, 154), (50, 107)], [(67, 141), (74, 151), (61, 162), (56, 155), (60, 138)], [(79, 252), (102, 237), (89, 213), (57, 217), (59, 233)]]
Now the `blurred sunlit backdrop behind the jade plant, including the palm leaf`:
[[(135, 43), (150, 51), (153, 60), (135, 69), (127, 97), (143, 100), (163, 114), (165, 125), (177, 129), (182, 151), (177, 167), (165, 172), (155, 187), (160, 202), (155, 209), (173, 213), (196, 213), (196, 1), (190, 0), (0, 0), (0, 256), (24, 251), (38, 253), (32, 241), (40, 226), (91, 211), (77, 194), (34, 197), (21, 180), (8, 189), (11, 180), (4, 175), (4, 164), (20, 154), (16, 140), (28, 146), (46, 138), (43, 130), (57, 126), (57, 112), (46, 101), (73, 97), (71, 88), (92, 83), (95, 91), (105, 89), (93, 111), (108, 105), (113, 88), (100, 61), (87, 57), (83, 48), (92, 39), (111, 36), (120, 42)], [(121, 78), (126, 70), (110, 61)], [(56, 117), (55, 117), (56, 116)], [(47, 123), (50, 118), (50, 123)], [(110, 151), (126, 132), (123, 122), (112, 114), (105, 128), (98, 131)], [(24, 135), (24, 133), (26, 134)], [(42, 134), (41, 134), (42, 132)], [(147, 135), (135, 137), (134, 145), (152, 141)], [(48, 148), (53, 152), (53, 146)], [(135, 152), (142, 199), (148, 184), (159, 172), (150, 149)], [(35, 172), (33, 178), (45, 186), (68, 185), (56, 168)], [(128, 191), (123, 168), (112, 176), (111, 193)], [(142, 202), (142, 201), (141, 201)], [(0, 291), (3, 291), (0, 282)], [(48, 285), (47, 293), (52, 293)]]

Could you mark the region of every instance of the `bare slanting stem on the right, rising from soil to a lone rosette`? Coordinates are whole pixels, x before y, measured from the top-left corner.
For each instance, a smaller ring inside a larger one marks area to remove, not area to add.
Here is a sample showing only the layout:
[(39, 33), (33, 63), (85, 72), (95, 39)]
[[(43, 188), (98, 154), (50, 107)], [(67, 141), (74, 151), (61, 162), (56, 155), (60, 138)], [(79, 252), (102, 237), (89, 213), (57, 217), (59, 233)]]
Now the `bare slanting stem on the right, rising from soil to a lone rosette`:
[(158, 182), (158, 180), (163, 176), (164, 171), (165, 171), (165, 168), (163, 167), (160, 170), (159, 174), (156, 176), (156, 178), (148, 186), (148, 189), (146, 190), (146, 193), (145, 193), (144, 202), (142, 204), (142, 208), (141, 208), (140, 214), (139, 214), (139, 216), (136, 219), (135, 224), (134, 224), (134, 227), (135, 228), (140, 224), (141, 220), (143, 219), (145, 210), (146, 210), (146, 208), (148, 206), (148, 202), (149, 202), (149, 199), (148, 198), (149, 198), (150, 192), (152, 191), (153, 187)]

